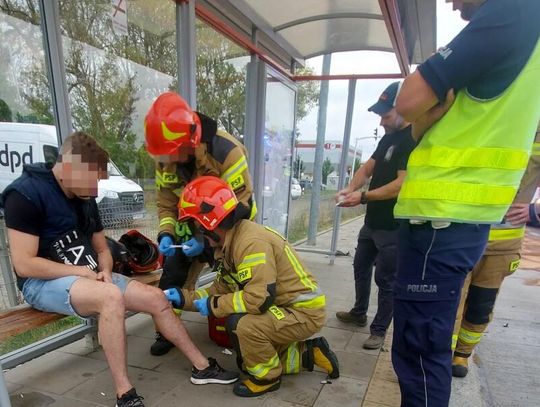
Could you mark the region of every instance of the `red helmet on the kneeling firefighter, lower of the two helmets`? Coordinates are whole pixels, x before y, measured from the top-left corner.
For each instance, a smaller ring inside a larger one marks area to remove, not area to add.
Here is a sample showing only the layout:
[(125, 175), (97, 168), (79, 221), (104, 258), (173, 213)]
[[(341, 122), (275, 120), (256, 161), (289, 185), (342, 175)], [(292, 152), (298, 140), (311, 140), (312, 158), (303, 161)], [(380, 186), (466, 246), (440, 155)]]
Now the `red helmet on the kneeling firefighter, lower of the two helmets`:
[(193, 218), (206, 230), (214, 230), (234, 211), (238, 199), (220, 178), (202, 176), (186, 185), (178, 202), (179, 220)]

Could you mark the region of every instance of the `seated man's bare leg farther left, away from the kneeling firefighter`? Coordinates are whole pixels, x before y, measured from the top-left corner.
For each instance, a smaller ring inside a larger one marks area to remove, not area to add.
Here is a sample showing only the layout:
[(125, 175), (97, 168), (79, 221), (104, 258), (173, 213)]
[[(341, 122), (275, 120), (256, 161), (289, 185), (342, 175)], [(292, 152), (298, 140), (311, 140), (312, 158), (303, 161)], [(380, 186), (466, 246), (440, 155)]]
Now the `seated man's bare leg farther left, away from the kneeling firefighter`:
[(79, 278), (70, 289), (71, 305), (79, 315), (99, 314), (98, 333), (118, 397), (133, 386), (127, 376), (125, 305), (113, 284)]

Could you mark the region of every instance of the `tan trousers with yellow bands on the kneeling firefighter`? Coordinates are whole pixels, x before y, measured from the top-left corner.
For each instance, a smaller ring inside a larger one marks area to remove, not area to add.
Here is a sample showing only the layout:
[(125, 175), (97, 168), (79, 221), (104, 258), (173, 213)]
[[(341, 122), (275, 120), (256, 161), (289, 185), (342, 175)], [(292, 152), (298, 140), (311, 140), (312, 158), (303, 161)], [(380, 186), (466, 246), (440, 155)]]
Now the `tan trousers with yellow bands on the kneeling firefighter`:
[(300, 372), (305, 340), (321, 330), (325, 319), (324, 308), (274, 305), (263, 314), (229, 316), (227, 331), (245, 370), (257, 380), (271, 382), (282, 374)]

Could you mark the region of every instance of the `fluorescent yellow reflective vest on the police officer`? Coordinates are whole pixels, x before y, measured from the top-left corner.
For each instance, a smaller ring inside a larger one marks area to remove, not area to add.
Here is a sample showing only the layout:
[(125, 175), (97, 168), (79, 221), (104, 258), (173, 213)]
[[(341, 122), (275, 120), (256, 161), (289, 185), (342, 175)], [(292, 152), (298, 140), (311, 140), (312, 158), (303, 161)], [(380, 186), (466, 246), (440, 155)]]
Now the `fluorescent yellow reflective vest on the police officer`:
[(497, 98), (458, 92), (411, 153), (396, 218), (500, 222), (527, 166), (540, 118), (540, 42)]

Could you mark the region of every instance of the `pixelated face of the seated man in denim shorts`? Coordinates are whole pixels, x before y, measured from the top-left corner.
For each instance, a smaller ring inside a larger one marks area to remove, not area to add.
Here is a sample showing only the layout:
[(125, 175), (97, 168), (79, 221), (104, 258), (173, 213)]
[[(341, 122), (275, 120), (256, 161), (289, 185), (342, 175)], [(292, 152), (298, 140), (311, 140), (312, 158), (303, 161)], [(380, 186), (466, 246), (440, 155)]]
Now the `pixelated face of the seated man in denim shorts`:
[(80, 154), (62, 156), (63, 187), (81, 199), (95, 198), (98, 195), (98, 181), (107, 179), (107, 171), (100, 170), (97, 163), (89, 163)]

